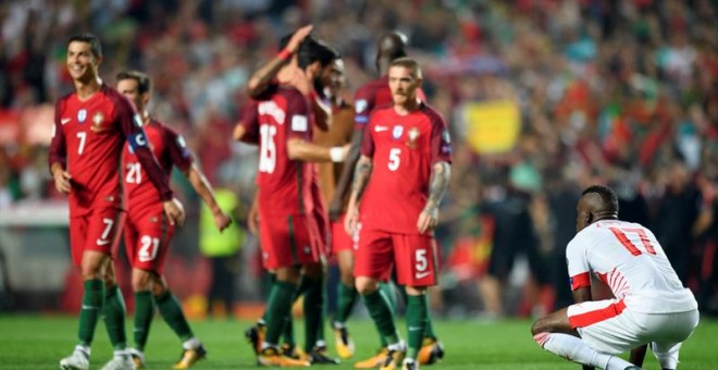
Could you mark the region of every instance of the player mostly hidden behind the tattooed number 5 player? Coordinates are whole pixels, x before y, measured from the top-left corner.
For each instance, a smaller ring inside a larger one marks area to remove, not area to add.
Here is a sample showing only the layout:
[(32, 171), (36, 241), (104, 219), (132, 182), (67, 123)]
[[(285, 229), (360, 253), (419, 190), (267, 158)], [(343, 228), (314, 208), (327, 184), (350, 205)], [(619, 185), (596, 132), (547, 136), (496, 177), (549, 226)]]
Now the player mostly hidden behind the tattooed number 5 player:
[[(359, 149), (361, 147), (361, 139), (363, 137), (364, 127), (369, 122), (369, 118), (373, 110), (377, 107), (384, 107), (393, 103), (392, 91), (388, 87), (388, 67), (389, 64), (398, 59), (406, 57), (406, 35), (392, 32), (388, 33), (382, 38), (380, 38), (376, 45), (376, 71), (380, 74), (380, 77), (367, 83), (357, 89), (355, 94), (355, 133), (351, 137), (351, 148), (349, 149), (349, 155), (347, 156), (346, 165), (339, 176), (339, 181), (336, 185), (336, 192), (334, 193), (334, 198), (330, 202), (330, 221), (334, 222), (339, 220), (343, 210), (344, 210), (344, 200), (348, 195), (349, 183), (354, 175), (354, 169), (357, 161), (359, 160)], [(425, 97), (421, 89), (418, 90), (418, 97), (421, 100), (425, 101)], [(342, 281), (339, 283), (338, 292), (338, 301), (337, 301), (337, 317), (334, 318), (333, 328), (336, 340), (336, 348), (339, 355), (351, 355), (354, 354), (354, 344), (351, 342), (346, 322), (349, 319), (351, 313), (351, 307), (357, 298), (357, 289), (354, 283), (354, 257), (345, 254), (345, 263), (342, 263), (339, 260), (339, 271)], [(394, 307), (394, 293), (392, 291), (391, 284), (381, 283), (380, 287), (384, 291), (384, 294), (389, 298), (389, 303)], [(401, 291), (403, 295), (405, 292)], [(406, 300), (406, 296), (404, 297)], [(381, 338), (381, 348), (375, 356), (372, 356), (366, 360), (355, 363), (356, 368), (360, 369), (371, 369), (375, 368), (381, 360), (386, 357), (386, 343), (384, 338), (380, 335)], [(423, 346), (419, 353), (419, 360), (422, 365), (433, 363), (436, 360), (441, 360), (444, 357), (444, 348), (442, 344), (436, 338), (434, 333), (431, 318), (426, 321)]]

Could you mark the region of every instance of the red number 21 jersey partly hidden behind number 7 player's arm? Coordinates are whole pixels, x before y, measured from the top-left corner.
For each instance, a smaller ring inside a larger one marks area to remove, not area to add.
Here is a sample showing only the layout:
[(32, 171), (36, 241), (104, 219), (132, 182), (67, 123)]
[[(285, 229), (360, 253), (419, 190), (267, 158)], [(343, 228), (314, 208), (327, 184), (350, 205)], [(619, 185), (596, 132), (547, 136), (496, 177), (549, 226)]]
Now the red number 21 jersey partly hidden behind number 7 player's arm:
[[(154, 120), (150, 120), (144, 128), (149, 147), (152, 149), (152, 153), (159, 161), (160, 166), (162, 166), (164, 178), (168, 182), (170, 182), (170, 175), (172, 174), (172, 165), (176, 165), (182, 171), (189, 169), (193, 163), (193, 157), (182, 136)], [(161, 202), (160, 194), (152, 183), (147, 181), (147, 176), (139, 164), (135, 150), (129, 144), (125, 145), (122, 151), (122, 178), (125, 184), (125, 195), (127, 196), (127, 210), (132, 212), (135, 209), (150, 207)]]

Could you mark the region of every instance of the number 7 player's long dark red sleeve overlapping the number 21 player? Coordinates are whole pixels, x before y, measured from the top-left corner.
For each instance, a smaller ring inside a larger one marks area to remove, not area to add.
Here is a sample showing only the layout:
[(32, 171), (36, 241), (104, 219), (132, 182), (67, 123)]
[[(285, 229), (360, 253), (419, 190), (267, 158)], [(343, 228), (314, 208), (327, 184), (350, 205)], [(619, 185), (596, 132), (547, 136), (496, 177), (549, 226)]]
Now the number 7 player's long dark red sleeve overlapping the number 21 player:
[(147, 173), (147, 177), (160, 193), (161, 200), (171, 200), (172, 189), (164, 175), (164, 171), (157, 162), (154, 155), (152, 155), (152, 150), (149, 148), (149, 141), (147, 140), (145, 130), (143, 130), (143, 122), (139, 114), (137, 114), (135, 108), (125, 97), (119, 96), (114, 100), (115, 120), (135, 152), (135, 156), (137, 156), (137, 160), (145, 170), (145, 173)]

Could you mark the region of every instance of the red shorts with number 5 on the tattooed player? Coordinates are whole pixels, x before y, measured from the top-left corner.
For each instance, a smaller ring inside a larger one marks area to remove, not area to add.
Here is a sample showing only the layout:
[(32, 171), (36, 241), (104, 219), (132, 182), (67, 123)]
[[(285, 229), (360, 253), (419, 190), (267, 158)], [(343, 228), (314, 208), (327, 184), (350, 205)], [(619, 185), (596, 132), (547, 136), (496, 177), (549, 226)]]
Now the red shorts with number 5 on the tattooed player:
[(426, 235), (359, 231), (355, 254), (355, 276), (388, 281), (396, 264), (397, 282), (408, 286), (436, 284), (438, 263), (436, 240)]

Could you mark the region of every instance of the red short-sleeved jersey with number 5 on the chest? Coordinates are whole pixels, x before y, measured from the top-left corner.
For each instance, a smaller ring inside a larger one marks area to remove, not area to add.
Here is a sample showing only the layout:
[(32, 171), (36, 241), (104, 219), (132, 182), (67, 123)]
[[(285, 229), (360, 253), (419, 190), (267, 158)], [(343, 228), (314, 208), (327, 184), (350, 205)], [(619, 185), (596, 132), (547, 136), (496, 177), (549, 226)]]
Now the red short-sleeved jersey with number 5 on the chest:
[(451, 162), (449, 141), (446, 122), (424, 103), (407, 115), (394, 107), (374, 110), (361, 143), (361, 153), (373, 163), (359, 210), (361, 227), (419, 234), (433, 164)]

